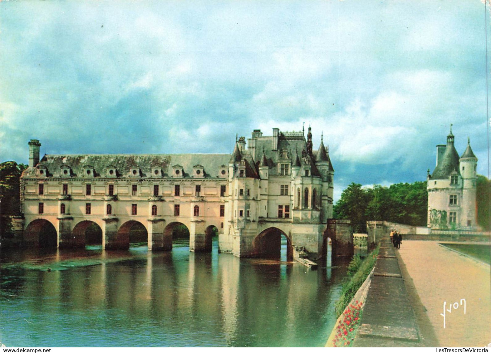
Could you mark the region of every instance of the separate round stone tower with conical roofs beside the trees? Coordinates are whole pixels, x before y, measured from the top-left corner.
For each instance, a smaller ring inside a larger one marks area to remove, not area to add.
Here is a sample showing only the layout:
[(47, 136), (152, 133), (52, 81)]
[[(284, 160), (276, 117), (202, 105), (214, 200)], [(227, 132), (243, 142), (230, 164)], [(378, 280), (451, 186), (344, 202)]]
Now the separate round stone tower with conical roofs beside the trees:
[(450, 127), (447, 144), (436, 146), (435, 170), (430, 174), (428, 169), (428, 227), (475, 230), (477, 158), (469, 139), (459, 157), (454, 140)]

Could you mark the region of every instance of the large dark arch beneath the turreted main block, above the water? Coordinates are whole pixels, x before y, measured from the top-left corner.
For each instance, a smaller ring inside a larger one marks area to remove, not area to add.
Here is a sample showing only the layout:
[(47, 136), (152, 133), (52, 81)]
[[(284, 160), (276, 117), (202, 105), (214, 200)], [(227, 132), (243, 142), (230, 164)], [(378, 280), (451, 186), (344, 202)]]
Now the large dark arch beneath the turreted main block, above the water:
[(281, 229), (270, 227), (259, 233), (252, 241), (254, 257), (281, 259), (281, 238), (286, 239), (286, 261), (293, 261), (293, 245), (288, 235)]

